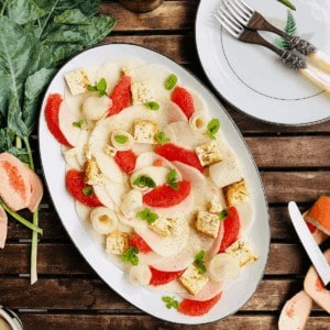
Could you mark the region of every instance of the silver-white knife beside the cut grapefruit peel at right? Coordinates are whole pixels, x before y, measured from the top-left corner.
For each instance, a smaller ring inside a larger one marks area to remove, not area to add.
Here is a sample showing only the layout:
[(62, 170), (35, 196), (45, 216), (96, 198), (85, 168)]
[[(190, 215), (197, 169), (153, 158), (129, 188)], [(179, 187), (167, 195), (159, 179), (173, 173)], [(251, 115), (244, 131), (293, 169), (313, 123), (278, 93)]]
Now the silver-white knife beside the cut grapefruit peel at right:
[(302, 218), (298, 206), (295, 201), (288, 204), (288, 211), (295, 230), (305, 248), (311, 263), (314, 264), (317, 273), (319, 274), (324, 286), (330, 284), (330, 266), (323, 256), (319, 245), (315, 241), (311, 232), (309, 231), (305, 219)]

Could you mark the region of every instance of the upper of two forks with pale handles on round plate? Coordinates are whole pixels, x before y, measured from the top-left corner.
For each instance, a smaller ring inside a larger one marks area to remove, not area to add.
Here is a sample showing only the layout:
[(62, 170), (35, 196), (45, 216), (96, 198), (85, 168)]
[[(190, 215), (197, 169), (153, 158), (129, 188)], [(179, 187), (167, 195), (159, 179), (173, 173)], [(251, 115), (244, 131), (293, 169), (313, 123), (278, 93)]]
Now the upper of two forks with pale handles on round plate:
[(243, 0), (223, 0), (227, 10), (245, 28), (250, 30), (268, 31), (284, 37), (290, 48), (308, 56), (324, 72), (330, 73), (330, 57), (310, 42), (296, 35), (289, 35), (271, 24), (260, 12), (255, 11)]

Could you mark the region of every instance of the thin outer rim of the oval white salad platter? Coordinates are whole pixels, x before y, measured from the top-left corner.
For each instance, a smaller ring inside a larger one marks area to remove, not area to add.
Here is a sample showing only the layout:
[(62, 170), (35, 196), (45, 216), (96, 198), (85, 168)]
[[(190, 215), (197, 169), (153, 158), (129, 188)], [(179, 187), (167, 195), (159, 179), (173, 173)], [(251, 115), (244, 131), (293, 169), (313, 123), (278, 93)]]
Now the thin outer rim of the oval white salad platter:
[[(45, 161), (43, 160), (43, 153), (42, 153), (42, 147), (41, 147), (41, 139), (38, 139), (38, 152), (40, 152), (40, 157), (41, 157), (41, 165), (42, 165), (42, 168), (43, 168), (43, 177), (44, 177), (44, 182), (45, 182), (45, 185), (47, 187), (47, 190), (50, 193), (50, 197), (51, 197), (51, 201), (54, 206), (54, 209), (57, 213), (57, 217), (59, 218), (65, 231), (67, 232), (70, 241), (74, 243), (75, 248), (77, 249), (77, 251), (79, 252), (79, 254), (84, 257), (84, 260), (88, 263), (88, 265), (97, 273), (97, 275), (106, 283), (106, 285), (108, 285), (113, 292), (116, 292), (118, 295), (120, 295), (123, 299), (125, 299), (129, 304), (135, 306), (138, 309), (146, 312), (147, 315), (151, 315), (160, 320), (163, 320), (163, 321), (167, 321), (167, 322), (172, 322), (172, 323), (180, 323), (180, 324), (206, 324), (206, 323), (210, 323), (210, 322), (216, 322), (216, 321), (220, 321), (229, 316), (232, 316), (234, 315), (240, 308), (242, 308), (242, 306), (252, 298), (253, 294), (255, 293), (257, 286), (260, 285), (263, 276), (264, 276), (264, 273), (265, 273), (265, 270), (266, 270), (266, 264), (267, 264), (267, 260), (268, 260), (268, 256), (270, 256), (270, 245), (271, 245), (271, 227), (270, 227), (270, 211), (268, 211), (268, 202), (266, 200), (266, 194), (265, 194), (265, 189), (264, 189), (264, 186), (263, 186), (263, 182), (262, 182), (262, 178), (261, 178), (261, 174), (258, 172), (258, 168), (256, 166), (256, 163), (254, 161), (254, 157), (241, 133), (241, 131), (239, 130), (239, 128), (237, 127), (235, 122), (233, 121), (233, 119), (231, 118), (231, 116), (229, 114), (229, 112), (227, 111), (227, 109), (223, 107), (223, 105), (220, 102), (219, 99), (217, 99), (217, 97), (212, 94), (212, 91), (194, 74), (191, 73), (189, 69), (187, 69), (186, 67), (184, 67), (183, 65), (176, 63), (174, 59), (172, 59), (169, 56), (166, 56), (162, 53), (160, 53), (158, 51), (156, 50), (153, 50), (152, 47), (147, 47), (147, 46), (144, 46), (144, 45), (138, 45), (138, 44), (133, 44), (133, 43), (122, 43), (122, 42), (116, 42), (116, 43), (111, 43), (111, 44), (101, 44), (101, 45), (96, 45), (94, 47), (90, 47), (86, 51), (82, 51), (82, 52), (79, 52), (78, 54), (76, 54), (75, 56), (73, 56), (69, 61), (67, 61), (66, 63), (63, 64), (63, 66), (57, 70), (56, 75), (54, 76), (54, 78), (52, 79), (52, 81), (50, 82), (45, 94), (44, 94), (44, 99), (43, 99), (43, 102), (42, 102), (42, 106), (41, 106), (41, 112), (40, 112), (40, 117), (38, 117), (38, 127), (37, 127), (37, 133), (38, 133), (38, 136), (41, 136), (41, 131), (42, 131), (42, 128), (43, 125), (45, 127), (45, 123), (44, 123), (44, 120), (42, 120), (42, 117), (44, 114), (44, 108), (45, 108), (45, 102), (46, 102), (46, 97), (47, 95), (50, 94), (50, 89), (53, 85), (53, 81), (56, 80), (56, 78), (61, 75), (62, 70), (69, 64), (72, 63), (73, 61), (76, 61), (77, 57), (81, 56), (81, 54), (85, 54), (85, 53), (88, 53), (88, 52), (94, 52), (94, 51), (97, 51), (98, 48), (103, 48), (103, 47), (117, 47), (117, 46), (123, 46), (123, 47), (133, 47), (133, 48), (136, 48), (136, 50), (142, 50), (142, 52), (147, 52), (150, 54), (153, 54), (152, 56), (156, 56), (158, 57), (160, 56), (160, 61), (161, 59), (165, 59), (169, 63), (172, 63), (172, 65), (176, 66), (177, 68), (182, 69), (183, 72), (185, 72), (185, 74), (187, 74), (189, 76), (189, 79), (193, 78), (193, 80), (195, 80), (197, 82), (197, 85), (200, 85), (204, 90), (206, 92), (208, 92), (208, 95), (212, 98), (213, 102), (217, 103), (217, 106), (221, 109), (221, 111), (223, 112), (223, 116), (227, 118), (227, 120), (230, 122), (230, 124), (232, 125), (232, 129), (233, 129), (233, 132), (234, 134), (237, 135), (238, 140), (243, 144), (244, 146), (244, 150), (245, 152), (248, 153), (248, 156), (249, 156), (249, 160), (251, 162), (251, 165), (253, 167), (253, 172), (256, 176), (256, 185), (258, 186), (258, 188), (261, 189), (262, 194), (261, 194), (261, 197), (262, 197), (262, 202), (263, 202), (263, 207), (264, 207), (264, 212), (265, 212), (265, 219), (264, 219), (264, 222), (265, 222), (265, 229), (266, 229), (266, 240), (265, 240), (265, 243), (266, 243), (266, 254), (264, 255), (264, 264), (262, 266), (262, 271), (260, 272), (258, 274), (258, 278), (257, 280), (255, 280), (255, 285), (253, 286), (253, 289), (251, 290), (251, 295), (249, 295), (246, 297), (246, 299), (240, 305), (237, 307), (235, 310), (232, 310), (230, 314), (228, 314), (227, 316), (223, 316), (221, 318), (216, 318), (216, 319), (211, 319), (211, 320), (208, 320), (207, 319), (207, 316), (202, 316), (202, 317), (187, 317), (187, 316), (180, 316), (179, 319), (170, 319), (170, 318), (166, 318), (166, 317), (162, 317), (162, 312), (160, 314), (154, 314), (154, 312), (151, 312), (150, 310), (147, 310), (146, 307), (141, 307), (141, 305), (138, 305), (138, 302), (133, 302), (129, 297), (125, 296), (125, 294), (123, 294), (121, 290), (119, 290), (117, 287), (113, 286), (113, 284), (109, 283), (109, 280), (107, 278), (105, 278), (105, 276), (102, 274), (99, 273), (98, 270), (96, 270), (96, 266), (88, 260), (88, 256), (85, 255), (85, 253), (81, 251), (79, 244), (76, 242), (76, 239), (73, 238), (73, 234), (69, 232), (69, 229), (67, 227), (67, 224), (65, 223), (63, 217), (61, 216), (61, 212), (59, 210), (57, 209), (57, 206), (56, 206), (56, 202), (54, 200), (54, 197), (53, 197), (53, 194), (51, 193), (51, 187), (50, 187), (50, 183), (48, 183), (48, 179), (46, 177), (46, 174), (45, 174)], [(107, 62), (107, 59), (105, 61), (98, 61), (99, 63), (105, 63)], [(43, 123), (42, 123), (43, 122)], [(61, 145), (59, 143), (58, 144), (58, 147), (61, 148)], [(235, 152), (235, 151), (234, 151)], [(237, 152), (235, 152), (237, 153)], [(238, 155), (238, 157), (240, 158), (240, 156)], [(65, 164), (65, 162), (63, 162)], [(67, 193), (66, 193), (67, 194)], [(69, 196), (69, 195), (68, 195)], [(56, 199), (56, 198), (55, 198)], [(74, 200), (72, 200), (72, 204), (74, 205)], [(78, 216), (77, 216), (77, 219), (79, 221), (81, 221)], [(81, 227), (84, 227), (81, 224)], [(113, 263), (112, 263), (113, 264)], [(117, 267), (114, 264), (113, 264), (114, 267)], [(122, 271), (120, 271), (122, 272)], [(127, 282), (127, 279), (124, 279)], [(143, 287), (140, 288), (140, 290), (144, 292), (144, 293), (151, 293), (151, 294), (154, 294), (154, 292), (151, 292), (151, 290), (147, 290)], [(155, 292), (157, 293), (157, 292)], [(160, 292), (162, 293), (162, 292)], [(165, 306), (164, 306), (164, 311), (165, 311)], [(172, 316), (173, 317), (173, 316)]]

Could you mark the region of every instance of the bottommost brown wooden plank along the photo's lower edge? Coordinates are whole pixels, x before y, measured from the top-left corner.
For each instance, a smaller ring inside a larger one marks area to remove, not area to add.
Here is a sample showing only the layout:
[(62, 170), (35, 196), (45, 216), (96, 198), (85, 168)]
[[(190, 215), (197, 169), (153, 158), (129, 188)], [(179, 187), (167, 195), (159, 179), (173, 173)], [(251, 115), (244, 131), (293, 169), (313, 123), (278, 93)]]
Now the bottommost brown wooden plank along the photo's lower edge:
[[(150, 316), (132, 316), (132, 315), (37, 315), (37, 314), (21, 314), (21, 319), (24, 322), (24, 329), (34, 330), (35, 324), (40, 329), (47, 330), (190, 330), (191, 326), (176, 324), (167, 321), (162, 321)], [(195, 330), (246, 330), (246, 329), (263, 329), (277, 330), (278, 316), (274, 315), (255, 315), (242, 316), (235, 315), (216, 321), (212, 323), (194, 326)], [(305, 330), (328, 330), (329, 317), (310, 317)]]

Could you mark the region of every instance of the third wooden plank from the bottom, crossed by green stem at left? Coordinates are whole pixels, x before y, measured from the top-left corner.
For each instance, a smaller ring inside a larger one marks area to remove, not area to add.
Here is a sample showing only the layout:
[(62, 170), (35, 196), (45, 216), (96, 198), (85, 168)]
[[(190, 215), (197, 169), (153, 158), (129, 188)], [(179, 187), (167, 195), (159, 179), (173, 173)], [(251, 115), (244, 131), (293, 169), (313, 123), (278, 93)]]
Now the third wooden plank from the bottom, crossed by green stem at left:
[[(6, 249), (0, 251), (0, 274), (28, 274), (29, 256), (30, 244), (7, 244)], [(308, 258), (299, 243), (271, 244), (267, 275), (297, 275), (305, 273), (308, 265)], [(40, 275), (51, 276), (54, 274), (95, 276), (94, 271), (70, 243), (40, 244), (37, 271)]]

